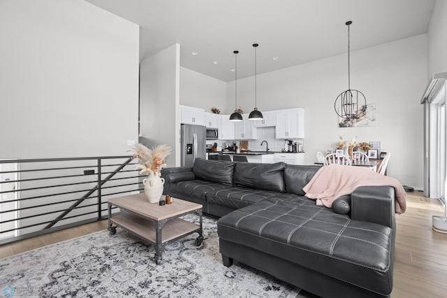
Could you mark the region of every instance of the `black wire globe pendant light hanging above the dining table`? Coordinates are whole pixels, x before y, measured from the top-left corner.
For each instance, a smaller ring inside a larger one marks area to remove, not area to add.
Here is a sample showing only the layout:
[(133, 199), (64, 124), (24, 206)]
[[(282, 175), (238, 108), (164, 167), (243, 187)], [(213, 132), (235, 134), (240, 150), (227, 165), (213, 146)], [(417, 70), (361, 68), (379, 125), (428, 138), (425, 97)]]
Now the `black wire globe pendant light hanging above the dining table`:
[(340, 118), (346, 119), (346, 122), (352, 122), (359, 118), (358, 111), (363, 113), (366, 111), (366, 98), (365, 95), (359, 90), (351, 89), (351, 70), (349, 61), (349, 25), (352, 21), (346, 22), (348, 26), (348, 90), (339, 94), (337, 99), (335, 99), (334, 108), (335, 113), (339, 115)]

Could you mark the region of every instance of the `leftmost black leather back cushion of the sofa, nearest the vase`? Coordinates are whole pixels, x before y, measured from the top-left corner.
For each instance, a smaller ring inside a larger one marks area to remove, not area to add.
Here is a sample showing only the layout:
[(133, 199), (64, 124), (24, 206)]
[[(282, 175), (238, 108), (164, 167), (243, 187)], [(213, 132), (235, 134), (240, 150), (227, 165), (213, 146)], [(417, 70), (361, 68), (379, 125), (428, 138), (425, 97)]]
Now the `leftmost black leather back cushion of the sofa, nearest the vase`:
[(196, 158), (193, 173), (196, 179), (233, 185), (234, 162)]

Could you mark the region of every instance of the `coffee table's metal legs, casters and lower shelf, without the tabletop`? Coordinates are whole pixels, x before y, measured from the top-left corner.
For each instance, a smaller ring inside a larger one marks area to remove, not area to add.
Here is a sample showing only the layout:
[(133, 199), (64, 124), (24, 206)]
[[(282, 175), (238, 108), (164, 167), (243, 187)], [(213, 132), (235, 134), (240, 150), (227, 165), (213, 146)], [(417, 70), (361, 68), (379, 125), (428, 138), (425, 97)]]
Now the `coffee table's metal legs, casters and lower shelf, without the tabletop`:
[[(115, 198), (119, 199), (119, 198)], [(111, 199), (112, 200), (112, 199)], [(177, 200), (176, 200), (177, 201)], [(149, 204), (149, 203), (148, 203)], [(175, 204), (175, 203), (173, 203)], [(121, 212), (114, 213), (112, 216), (112, 206), (117, 206), (120, 208)], [(193, 222), (187, 220), (182, 220), (180, 216), (196, 213), (200, 218), (200, 224), (197, 225)], [(108, 230), (110, 234), (115, 234), (117, 232), (116, 227), (122, 227), (127, 231), (131, 232), (140, 239), (143, 239), (155, 246), (155, 262), (157, 265), (161, 264), (163, 258), (163, 249), (167, 243), (176, 241), (177, 239), (183, 238), (189, 234), (198, 233), (194, 245), (200, 246), (203, 242), (203, 225), (202, 225), (202, 208), (197, 208), (193, 211), (186, 211), (182, 213), (177, 213), (168, 218), (163, 218), (162, 220), (156, 220), (150, 218), (147, 215), (141, 213), (135, 213), (129, 208), (121, 206), (118, 202), (113, 200), (108, 202)], [(115, 226), (114, 226), (115, 225)], [(163, 228), (171, 229), (170, 235), (166, 241), (163, 241)], [(172, 230), (175, 230), (173, 233)], [(155, 232), (155, 233), (154, 233)], [(154, 235), (155, 234), (155, 237)], [(155, 239), (154, 239), (155, 238)]]

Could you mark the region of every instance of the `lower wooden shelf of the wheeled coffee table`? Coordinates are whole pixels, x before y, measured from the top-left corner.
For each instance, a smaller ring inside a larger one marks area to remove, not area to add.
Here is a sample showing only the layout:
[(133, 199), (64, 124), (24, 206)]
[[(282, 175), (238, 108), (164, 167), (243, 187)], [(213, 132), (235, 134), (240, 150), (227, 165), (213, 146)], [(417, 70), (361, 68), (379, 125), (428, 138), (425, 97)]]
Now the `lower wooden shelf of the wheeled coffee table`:
[[(110, 222), (132, 232), (136, 236), (156, 244), (156, 224), (150, 220), (146, 220), (138, 215), (121, 212), (113, 215)], [(194, 232), (198, 232), (199, 225), (181, 218), (173, 218), (163, 225), (163, 233), (161, 234), (161, 243), (184, 237)]]

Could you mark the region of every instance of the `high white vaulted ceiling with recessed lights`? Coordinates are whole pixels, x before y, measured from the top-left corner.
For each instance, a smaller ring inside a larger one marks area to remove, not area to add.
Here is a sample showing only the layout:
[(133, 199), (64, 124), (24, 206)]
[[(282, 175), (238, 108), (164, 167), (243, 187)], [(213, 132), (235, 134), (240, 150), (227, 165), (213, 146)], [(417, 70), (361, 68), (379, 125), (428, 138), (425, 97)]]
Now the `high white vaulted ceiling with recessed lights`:
[[(140, 59), (181, 45), (180, 65), (219, 80), (427, 33), (434, 0), (86, 0), (140, 25)], [(196, 55), (192, 53), (196, 52)], [(277, 59), (273, 59), (277, 57)], [(355, 62), (353, 62), (355, 63)]]

